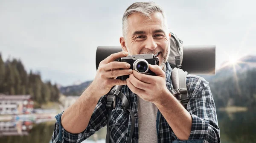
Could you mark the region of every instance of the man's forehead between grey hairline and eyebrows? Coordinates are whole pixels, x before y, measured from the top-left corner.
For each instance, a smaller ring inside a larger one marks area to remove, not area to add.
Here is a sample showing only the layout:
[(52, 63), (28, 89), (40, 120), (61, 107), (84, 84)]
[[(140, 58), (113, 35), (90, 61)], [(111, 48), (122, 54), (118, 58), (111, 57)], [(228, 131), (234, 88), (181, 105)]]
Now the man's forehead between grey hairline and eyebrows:
[(160, 12), (155, 12), (150, 18), (141, 14), (131, 14), (128, 19), (128, 34), (134, 31), (151, 32), (156, 29), (162, 29), (164, 31), (165, 22), (163, 15)]

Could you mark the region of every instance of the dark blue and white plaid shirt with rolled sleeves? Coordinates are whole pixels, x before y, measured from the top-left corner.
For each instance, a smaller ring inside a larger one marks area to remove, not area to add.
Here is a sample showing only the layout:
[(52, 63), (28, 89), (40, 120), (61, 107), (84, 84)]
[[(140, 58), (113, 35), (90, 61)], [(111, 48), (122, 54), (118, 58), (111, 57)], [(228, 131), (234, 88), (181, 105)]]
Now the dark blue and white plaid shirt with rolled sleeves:
[[(173, 90), (171, 80), (172, 68), (166, 62), (166, 87)], [(209, 83), (195, 75), (187, 75), (186, 87), (188, 89), (189, 103), (187, 111), (192, 117), (192, 128), (189, 140), (180, 141), (172, 131), (161, 112), (157, 112), (157, 142), (158, 143), (218, 143), (220, 142), (219, 127), (215, 104), (210, 91)], [(135, 128), (132, 143), (139, 143), (137, 97), (125, 85), (122, 93), (128, 98), (130, 108), (135, 115)], [(61, 126), (61, 115), (56, 115), (52, 143), (80, 143), (93, 135), (96, 131), (106, 126), (108, 121), (108, 110), (105, 108), (107, 96), (102, 96), (96, 105), (87, 128), (79, 134), (71, 134)], [(125, 143), (131, 130), (131, 117), (122, 108), (122, 101), (117, 98), (116, 108), (113, 109), (110, 121), (110, 140), (112, 143)], [(136, 113), (136, 114), (135, 114)]]

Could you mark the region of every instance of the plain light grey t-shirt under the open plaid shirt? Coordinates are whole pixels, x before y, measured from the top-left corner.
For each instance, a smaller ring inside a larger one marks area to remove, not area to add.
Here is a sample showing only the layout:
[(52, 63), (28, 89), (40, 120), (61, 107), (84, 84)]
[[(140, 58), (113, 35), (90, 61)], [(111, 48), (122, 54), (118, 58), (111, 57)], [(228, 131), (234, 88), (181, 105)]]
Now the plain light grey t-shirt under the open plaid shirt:
[[(166, 72), (166, 65), (163, 67)], [(157, 143), (157, 107), (137, 95), (139, 143)]]

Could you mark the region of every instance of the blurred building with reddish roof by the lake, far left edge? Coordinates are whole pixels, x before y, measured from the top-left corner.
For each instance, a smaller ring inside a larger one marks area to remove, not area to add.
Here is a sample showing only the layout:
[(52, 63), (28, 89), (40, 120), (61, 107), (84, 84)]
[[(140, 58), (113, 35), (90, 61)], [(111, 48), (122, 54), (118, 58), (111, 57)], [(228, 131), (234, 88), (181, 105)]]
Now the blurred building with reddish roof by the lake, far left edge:
[(30, 95), (0, 95), (0, 115), (30, 114), (33, 109)]

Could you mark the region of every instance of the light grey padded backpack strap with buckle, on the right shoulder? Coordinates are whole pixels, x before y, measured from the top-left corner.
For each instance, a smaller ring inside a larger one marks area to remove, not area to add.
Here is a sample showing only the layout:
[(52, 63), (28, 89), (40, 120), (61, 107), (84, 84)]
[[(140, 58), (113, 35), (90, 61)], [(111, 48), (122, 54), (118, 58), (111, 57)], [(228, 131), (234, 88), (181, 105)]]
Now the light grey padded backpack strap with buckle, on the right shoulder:
[(188, 72), (177, 67), (172, 70), (172, 85), (174, 90), (171, 90), (171, 93), (176, 96), (185, 108), (189, 102), (188, 90), (186, 88), (187, 74)]

